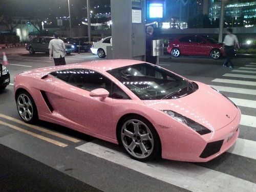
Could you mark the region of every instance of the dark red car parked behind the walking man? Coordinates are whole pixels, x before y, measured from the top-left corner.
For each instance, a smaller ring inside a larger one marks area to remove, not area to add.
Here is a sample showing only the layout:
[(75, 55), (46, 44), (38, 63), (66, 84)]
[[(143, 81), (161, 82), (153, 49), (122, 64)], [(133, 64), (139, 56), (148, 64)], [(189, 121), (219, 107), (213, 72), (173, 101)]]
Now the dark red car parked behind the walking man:
[(206, 35), (188, 35), (169, 41), (167, 52), (173, 57), (180, 55), (206, 55), (214, 59), (225, 56), (223, 44)]

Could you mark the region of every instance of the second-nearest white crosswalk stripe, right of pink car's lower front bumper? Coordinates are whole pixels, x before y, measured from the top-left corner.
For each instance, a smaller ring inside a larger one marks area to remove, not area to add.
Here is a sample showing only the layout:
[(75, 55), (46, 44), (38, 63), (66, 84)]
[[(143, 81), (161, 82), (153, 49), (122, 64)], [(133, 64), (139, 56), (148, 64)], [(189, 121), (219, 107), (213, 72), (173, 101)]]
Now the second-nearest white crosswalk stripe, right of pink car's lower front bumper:
[(256, 142), (238, 138), (236, 143), (231, 146), (227, 152), (256, 159)]

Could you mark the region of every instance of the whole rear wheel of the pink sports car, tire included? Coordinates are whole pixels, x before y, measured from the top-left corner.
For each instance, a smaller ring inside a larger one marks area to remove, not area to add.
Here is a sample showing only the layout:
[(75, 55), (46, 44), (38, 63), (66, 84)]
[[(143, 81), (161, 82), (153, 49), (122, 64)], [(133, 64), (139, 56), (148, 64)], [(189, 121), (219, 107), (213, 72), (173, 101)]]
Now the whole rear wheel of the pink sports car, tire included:
[(27, 123), (32, 123), (38, 119), (35, 102), (31, 95), (23, 90), (16, 97), (16, 104), (19, 116)]

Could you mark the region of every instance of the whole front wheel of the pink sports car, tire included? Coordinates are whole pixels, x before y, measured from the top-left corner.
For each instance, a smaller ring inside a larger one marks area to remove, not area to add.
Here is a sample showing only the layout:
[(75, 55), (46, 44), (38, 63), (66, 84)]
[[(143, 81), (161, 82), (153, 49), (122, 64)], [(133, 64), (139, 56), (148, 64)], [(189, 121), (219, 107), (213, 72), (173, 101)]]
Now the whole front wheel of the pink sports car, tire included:
[(147, 161), (160, 156), (159, 136), (153, 125), (140, 116), (130, 116), (122, 121), (118, 140), (133, 159)]

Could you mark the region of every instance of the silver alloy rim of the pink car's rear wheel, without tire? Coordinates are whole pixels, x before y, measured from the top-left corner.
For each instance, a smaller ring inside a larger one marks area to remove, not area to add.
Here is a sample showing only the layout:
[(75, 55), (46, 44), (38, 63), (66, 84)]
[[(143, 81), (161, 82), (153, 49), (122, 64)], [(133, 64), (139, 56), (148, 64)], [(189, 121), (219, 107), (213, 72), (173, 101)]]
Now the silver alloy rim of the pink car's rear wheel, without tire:
[(20, 117), (25, 121), (30, 121), (33, 118), (32, 101), (26, 94), (20, 94), (17, 98), (17, 108)]

